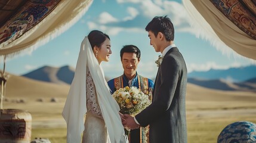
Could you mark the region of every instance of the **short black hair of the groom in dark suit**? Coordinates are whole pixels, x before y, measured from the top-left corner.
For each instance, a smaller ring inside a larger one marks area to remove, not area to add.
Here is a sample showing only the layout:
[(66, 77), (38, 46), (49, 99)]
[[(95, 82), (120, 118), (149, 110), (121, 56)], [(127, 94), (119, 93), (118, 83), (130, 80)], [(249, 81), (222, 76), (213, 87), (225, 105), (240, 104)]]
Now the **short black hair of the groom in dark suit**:
[(174, 41), (174, 26), (167, 15), (164, 17), (154, 17), (147, 24), (145, 30), (153, 32), (155, 37), (158, 35), (158, 32), (161, 32), (165, 35), (166, 41)]

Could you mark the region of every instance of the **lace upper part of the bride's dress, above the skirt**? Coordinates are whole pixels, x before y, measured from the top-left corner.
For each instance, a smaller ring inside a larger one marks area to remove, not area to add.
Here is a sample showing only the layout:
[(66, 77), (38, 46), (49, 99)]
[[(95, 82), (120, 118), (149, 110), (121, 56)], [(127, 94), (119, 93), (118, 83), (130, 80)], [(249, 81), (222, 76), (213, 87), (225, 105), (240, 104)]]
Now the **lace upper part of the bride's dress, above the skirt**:
[(88, 68), (87, 68), (86, 74), (87, 74), (87, 77), (86, 77), (87, 111), (94, 114), (94, 116), (100, 117), (101, 119), (103, 119), (100, 111), (100, 106), (98, 105), (95, 85)]

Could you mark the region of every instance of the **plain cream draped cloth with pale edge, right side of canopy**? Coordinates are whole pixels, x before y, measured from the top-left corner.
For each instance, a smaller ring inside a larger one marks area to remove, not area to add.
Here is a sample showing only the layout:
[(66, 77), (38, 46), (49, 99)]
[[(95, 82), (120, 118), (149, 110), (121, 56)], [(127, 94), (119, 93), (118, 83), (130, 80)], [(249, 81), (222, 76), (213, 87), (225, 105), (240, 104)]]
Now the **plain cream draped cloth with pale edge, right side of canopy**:
[(183, 0), (183, 5), (190, 15), (192, 25), (200, 27), (199, 36), (205, 37), (224, 54), (235, 51), (252, 61), (256, 60), (256, 40), (233, 24), (211, 1)]

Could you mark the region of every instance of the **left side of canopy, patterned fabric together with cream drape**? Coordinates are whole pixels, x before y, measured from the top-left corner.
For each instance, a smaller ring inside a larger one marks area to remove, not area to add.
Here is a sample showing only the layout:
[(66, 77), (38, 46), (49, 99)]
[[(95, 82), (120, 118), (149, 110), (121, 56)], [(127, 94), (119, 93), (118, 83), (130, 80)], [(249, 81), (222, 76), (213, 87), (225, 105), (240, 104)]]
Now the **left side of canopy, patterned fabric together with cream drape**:
[(63, 33), (92, 0), (3, 0), (0, 3), (0, 56), (31, 51)]

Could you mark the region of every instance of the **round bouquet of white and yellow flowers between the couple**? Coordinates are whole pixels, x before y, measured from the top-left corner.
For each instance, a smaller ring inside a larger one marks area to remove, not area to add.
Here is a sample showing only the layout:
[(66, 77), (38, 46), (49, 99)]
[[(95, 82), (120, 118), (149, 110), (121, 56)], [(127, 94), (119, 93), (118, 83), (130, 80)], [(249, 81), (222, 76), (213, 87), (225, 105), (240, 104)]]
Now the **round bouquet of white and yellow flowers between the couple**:
[(113, 93), (122, 114), (137, 114), (151, 104), (149, 96), (132, 86), (120, 88)]

